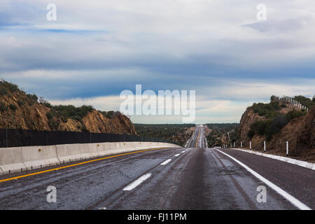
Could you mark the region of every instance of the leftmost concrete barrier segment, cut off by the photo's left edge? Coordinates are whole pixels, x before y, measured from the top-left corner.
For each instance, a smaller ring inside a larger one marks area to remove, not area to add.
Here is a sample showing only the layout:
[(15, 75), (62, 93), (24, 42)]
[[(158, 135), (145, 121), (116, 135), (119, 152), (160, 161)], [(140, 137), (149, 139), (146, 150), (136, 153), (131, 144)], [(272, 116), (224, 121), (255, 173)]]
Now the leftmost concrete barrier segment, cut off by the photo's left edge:
[(22, 148), (0, 148), (0, 168), (2, 174), (22, 172), (26, 170), (22, 158)]

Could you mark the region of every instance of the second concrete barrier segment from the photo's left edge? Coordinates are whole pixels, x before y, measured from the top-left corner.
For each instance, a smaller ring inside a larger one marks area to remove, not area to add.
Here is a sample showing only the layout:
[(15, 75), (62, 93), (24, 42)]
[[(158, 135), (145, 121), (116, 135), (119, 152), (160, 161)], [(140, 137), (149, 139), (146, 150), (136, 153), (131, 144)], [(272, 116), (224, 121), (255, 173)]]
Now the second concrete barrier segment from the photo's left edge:
[(60, 164), (57, 158), (57, 146), (22, 147), (22, 159), (27, 169), (37, 169)]

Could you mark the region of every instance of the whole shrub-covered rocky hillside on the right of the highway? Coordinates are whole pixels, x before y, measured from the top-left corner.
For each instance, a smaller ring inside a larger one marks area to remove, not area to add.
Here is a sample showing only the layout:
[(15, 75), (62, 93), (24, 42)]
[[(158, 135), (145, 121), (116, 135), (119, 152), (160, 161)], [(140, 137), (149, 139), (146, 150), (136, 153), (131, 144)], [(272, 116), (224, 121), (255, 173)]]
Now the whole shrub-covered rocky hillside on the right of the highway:
[(254, 104), (241, 116), (238, 139), (247, 148), (252, 141), (259, 151), (267, 141), (267, 151), (279, 155), (285, 155), (289, 141), (290, 156), (315, 162), (315, 106), (307, 113), (280, 100)]

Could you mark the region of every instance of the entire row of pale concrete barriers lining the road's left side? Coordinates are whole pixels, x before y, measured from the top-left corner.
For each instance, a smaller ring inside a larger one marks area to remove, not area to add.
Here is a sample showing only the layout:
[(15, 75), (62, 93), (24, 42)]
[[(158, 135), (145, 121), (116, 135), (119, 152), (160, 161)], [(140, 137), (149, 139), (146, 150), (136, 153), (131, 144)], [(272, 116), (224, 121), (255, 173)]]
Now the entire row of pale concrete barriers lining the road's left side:
[(162, 147), (179, 148), (174, 144), (139, 141), (0, 148), (0, 175), (64, 162)]

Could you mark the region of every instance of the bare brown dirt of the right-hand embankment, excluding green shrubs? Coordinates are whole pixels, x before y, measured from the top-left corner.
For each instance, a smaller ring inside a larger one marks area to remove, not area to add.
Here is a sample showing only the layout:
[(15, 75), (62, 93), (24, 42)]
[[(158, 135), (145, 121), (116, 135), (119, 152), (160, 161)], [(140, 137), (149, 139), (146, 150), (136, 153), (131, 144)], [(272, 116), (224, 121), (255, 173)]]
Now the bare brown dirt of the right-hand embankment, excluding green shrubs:
[[(288, 113), (293, 109), (287, 105), (286, 109), (281, 109), (281, 113)], [(248, 132), (253, 123), (266, 118), (253, 113), (253, 109), (248, 107), (240, 122), (240, 139), (243, 146), (249, 148), (249, 141), (252, 141), (253, 150), (263, 151), (264, 141), (267, 143), (267, 153), (286, 155), (286, 141), (289, 142), (289, 155), (295, 159), (315, 162), (315, 106), (313, 106), (306, 116), (301, 116), (290, 120), (278, 134), (274, 134), (270, 141), (266, 136), (255, 134), (252, 139), (248, 137)], [(237, 143), (239, 145), (239, 142)]]

